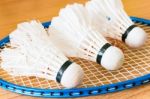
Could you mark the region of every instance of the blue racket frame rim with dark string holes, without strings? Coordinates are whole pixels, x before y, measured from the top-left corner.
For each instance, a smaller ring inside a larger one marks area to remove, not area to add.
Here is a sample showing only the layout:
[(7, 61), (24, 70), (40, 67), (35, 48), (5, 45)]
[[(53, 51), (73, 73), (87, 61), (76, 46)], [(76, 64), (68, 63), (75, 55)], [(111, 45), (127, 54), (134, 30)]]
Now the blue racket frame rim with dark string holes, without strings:
[[(150, 25), (150, 20), (131, 17), (134, 22), (140, 22), (144, 25)], [(44, 27), (48, 27), (51, 22), (43, 23)], [(0, 46), (3, 46), (5, 43), (9, 42), (9, 36), (0, 41)], [(89, 87), (89, 88), (74, 88), (74, 89), (40, 89), (40, 88), (30, 88), (25, 86), (18, 86), (16, 84), (9, 83), (2, 78), (0, 78), (0, 87), (9, 90), (15, 93), (35, 96), (35, 97), (44, 97), (44, 98), (72, 98), (72, 97), (84, 97), (84, 96), (94, 96), (106, 93), (117, 92), (136, 86), (140, 86), (150, 82), (150, 74), (123, 81), (114, 84)]]

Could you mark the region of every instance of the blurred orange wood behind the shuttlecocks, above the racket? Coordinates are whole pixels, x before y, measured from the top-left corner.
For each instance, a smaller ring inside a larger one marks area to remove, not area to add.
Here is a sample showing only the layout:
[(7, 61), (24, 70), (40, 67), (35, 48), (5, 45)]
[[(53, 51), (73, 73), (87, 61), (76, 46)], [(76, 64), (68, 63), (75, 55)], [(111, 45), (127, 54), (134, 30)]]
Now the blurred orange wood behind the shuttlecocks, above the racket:
[[(16, 24), (22, 21), (38, 19), (51, 20), (60, 8), (74, 2), (87, 0), (0, 0), (0, 38), (6, 36)], [(150, 18), (149, 0), (123, 0), (130, 16)]]

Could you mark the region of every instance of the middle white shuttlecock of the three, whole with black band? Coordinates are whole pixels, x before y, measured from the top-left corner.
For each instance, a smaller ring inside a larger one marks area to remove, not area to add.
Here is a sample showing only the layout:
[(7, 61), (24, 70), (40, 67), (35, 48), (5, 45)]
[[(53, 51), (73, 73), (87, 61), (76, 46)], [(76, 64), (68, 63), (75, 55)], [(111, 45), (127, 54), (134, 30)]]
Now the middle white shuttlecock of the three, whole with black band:
[(67, 56), (96, 61), (108, 70), (118, 69), (123, 64), (122, 51), (92, 29), (83, 5), (67, 5), (61, 9), (48, 31), (53, 43)]

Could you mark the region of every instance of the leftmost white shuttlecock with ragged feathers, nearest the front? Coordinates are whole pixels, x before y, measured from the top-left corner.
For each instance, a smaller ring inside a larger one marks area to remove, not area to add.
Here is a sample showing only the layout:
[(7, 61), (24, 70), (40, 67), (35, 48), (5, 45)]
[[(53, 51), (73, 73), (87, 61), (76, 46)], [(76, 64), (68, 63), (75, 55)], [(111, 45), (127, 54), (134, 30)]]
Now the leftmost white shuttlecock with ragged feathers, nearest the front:
[(81, 83), (82, 68), (55, 48), (40, 22), (18, 24), (9, 37), (11, 48), (0, 53), (1, 67), (9, 74), (54, 80), (67, 88)]

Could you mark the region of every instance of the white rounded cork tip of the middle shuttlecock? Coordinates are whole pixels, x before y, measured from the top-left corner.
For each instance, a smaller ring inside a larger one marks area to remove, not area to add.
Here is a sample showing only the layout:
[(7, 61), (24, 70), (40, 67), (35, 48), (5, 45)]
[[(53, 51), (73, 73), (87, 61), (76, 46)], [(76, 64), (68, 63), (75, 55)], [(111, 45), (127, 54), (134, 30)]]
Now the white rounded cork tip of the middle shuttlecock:
[(123, 62), (124, 54), (115, 46), (110, 46), (101, 59), (101, 65), (107, 70), (117, 70), (122, 66)]

